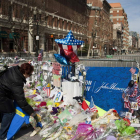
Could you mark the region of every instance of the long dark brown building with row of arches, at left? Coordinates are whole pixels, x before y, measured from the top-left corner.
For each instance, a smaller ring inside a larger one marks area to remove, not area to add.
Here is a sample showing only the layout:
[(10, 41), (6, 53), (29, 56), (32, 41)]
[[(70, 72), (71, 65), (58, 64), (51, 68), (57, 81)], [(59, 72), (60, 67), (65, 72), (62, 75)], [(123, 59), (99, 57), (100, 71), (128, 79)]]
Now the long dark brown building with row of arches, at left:
[[(69, 30), (75, 38), (86, 42), (89, 13), (86, 4), (86, 0), (1, 0), (0, 34), (5, 33), (5, 37), (0, 36), (0, 50), (24, 48), (34, 54), (37, 31), (39, 48), (46, 52), (57, 51), (54, 39), (64, 38)], [(10, 34), (14, 37), (9, 38)]]

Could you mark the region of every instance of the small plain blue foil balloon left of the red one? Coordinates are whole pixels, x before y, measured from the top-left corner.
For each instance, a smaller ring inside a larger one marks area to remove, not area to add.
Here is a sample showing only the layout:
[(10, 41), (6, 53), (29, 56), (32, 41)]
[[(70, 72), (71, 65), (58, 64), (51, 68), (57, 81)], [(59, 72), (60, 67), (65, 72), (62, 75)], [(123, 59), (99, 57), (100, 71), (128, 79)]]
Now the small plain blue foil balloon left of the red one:
[(69, 65), (69, 62), (66, 60), (66, 58), (61, 56), (60, 54), (54, 54), (54, 57), (56, 61), (61, 65)]

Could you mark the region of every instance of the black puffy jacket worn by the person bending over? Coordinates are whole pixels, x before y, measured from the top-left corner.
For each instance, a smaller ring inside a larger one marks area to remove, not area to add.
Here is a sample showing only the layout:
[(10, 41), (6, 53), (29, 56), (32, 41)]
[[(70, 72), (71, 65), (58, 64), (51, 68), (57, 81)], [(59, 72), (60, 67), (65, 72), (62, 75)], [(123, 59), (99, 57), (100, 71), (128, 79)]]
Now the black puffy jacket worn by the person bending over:
[(11, 113), (15, 111), (13, 100), (28, 115), (34, 110), (27, 103), (23, 86), (26, 79), (19, 70), (19, 66), (9, 68), (2, 76), (0, 76), (0, 112)]

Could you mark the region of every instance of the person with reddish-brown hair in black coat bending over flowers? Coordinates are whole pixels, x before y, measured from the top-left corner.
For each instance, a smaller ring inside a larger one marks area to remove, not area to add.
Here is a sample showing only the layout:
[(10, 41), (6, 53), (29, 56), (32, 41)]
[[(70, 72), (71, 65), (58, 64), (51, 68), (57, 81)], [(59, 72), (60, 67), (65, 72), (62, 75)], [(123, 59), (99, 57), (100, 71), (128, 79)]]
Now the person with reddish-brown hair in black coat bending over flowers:
[(27, 103), (24, 95), (24, 83), (26, 78), (32, 75), (34, 68), (28, 63), (19, 66), (14, 66), (7, 69), (2, 76), (0, 76), (0, 114), (1, 129), (0, 140), (7, 136), (10, 123), (15, 114), (15, 107), (13, 101), (25, 111), (28, 115), (32, 115), (35, 119), (33, 108)]

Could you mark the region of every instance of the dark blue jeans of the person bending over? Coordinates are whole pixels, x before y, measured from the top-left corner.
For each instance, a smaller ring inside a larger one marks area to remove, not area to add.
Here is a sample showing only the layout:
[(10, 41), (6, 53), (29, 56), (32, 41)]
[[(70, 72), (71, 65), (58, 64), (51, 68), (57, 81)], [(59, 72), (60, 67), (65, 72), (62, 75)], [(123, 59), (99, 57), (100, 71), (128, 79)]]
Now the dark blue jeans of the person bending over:
[(2, 122), (0, 129), (0, 140), (4, 140), (5, 138), (7, 138), (7, 132), (14, 115), (15, 113), (1, 113)]

